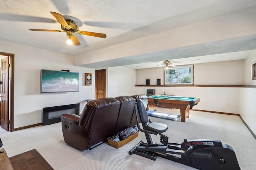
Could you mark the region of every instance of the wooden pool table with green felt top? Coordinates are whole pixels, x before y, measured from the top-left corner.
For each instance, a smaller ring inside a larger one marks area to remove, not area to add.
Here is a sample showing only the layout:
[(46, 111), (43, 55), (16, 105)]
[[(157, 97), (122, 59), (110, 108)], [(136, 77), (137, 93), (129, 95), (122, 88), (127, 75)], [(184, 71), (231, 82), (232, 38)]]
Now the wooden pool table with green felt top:
[(199, 102), (199, 98), (164, 96), (164, 95), (148, 95), (148, 106), (158, 106), (180, 109), (181, 121), (189, 118), (189, 110)]

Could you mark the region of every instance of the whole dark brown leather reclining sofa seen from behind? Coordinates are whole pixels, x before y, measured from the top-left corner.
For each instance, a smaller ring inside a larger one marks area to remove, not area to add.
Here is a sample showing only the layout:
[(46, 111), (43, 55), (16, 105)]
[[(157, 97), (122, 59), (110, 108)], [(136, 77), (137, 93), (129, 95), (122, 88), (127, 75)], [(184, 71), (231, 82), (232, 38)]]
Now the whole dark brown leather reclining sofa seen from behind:
[(146, 104), (146, 95), (118, 96), (90, 101), (81, 116), (66, 113), (61, 116), (65, 143), (87, 150), (108, 137), (136, 125), (134, 104), (138, 99)]

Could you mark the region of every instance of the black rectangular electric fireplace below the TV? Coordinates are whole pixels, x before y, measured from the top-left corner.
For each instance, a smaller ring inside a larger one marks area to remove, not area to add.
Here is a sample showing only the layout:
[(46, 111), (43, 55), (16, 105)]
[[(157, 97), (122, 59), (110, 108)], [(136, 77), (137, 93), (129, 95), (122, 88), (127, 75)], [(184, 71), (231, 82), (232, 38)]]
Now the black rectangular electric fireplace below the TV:
[(64, 113), (73, 113), (79, 115), (79, 103), (63, 106), (44, 107), (43, 126), (61, 122), (60, 116)]

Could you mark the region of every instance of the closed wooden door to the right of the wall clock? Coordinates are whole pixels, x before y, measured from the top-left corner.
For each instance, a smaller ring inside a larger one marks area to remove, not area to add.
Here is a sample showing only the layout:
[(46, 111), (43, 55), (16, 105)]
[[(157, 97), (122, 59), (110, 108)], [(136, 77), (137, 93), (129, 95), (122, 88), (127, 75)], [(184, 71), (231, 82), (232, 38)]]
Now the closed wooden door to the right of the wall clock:
[(95, 70), (95, 98), (106, 97), (106, 69)]

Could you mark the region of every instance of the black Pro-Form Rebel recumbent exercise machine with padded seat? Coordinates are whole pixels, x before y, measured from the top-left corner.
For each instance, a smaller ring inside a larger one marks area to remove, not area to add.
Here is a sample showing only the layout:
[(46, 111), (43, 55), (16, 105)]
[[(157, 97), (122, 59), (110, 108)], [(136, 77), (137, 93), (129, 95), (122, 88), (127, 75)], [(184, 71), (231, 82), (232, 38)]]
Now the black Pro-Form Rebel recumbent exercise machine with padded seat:
[[(219, 140), (187, 140), (181, 144), (168, 143), (164, 134), (168, 126), (151, 122), (142, 100), (134, 106), (139, 131), (145, 133), (147, 143), (140, 141), (129, 154), (137, 154), (151, 160), (157, 156), (201, 170), (240, 170), (232, 147)], [(139, 119), (140, 118), (140, 119)], [(140, 121), (142, 128), (140, 127)], [(153, 143), (151, 134), (160, 135), (160, 143)]]

